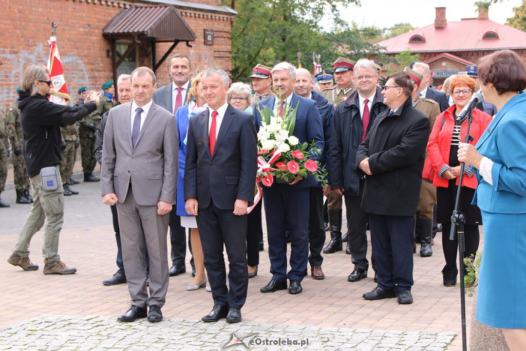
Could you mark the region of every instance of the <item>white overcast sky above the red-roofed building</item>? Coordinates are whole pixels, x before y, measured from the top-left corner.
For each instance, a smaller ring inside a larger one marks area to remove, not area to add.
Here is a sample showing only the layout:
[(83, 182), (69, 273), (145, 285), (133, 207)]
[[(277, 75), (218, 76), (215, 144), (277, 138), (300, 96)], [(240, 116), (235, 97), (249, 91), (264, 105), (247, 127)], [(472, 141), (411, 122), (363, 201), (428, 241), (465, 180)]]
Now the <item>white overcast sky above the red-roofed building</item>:
[[(476, 0), (361, 0), (361, 6), (340, 8), (342, 19), (358, 26), (389, 28), (397, 23), (410, 23), (413, 27), (423, 27), (434, 23), (435, 7), (446, 7), (448, 21), (477, 17)], [(489, 8), (489, 18), (504, 24), (513, 16), (513, 7), (520, 6), (522, 0), (502, 0)], [(371, 16), (372, 14), (372, 16)]]

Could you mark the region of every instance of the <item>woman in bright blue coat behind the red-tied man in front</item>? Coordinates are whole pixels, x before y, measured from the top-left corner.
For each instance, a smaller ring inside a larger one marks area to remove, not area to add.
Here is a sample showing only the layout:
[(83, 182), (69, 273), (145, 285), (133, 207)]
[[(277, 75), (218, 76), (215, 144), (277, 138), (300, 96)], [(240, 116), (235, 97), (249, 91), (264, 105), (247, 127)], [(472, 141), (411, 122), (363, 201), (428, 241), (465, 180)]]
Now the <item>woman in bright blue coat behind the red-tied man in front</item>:
[[(195, 216), (190, 216), (185, 209), (185, 190), (183, 176), (185, 174), (186, 160), (186, 132), (188, 132), (188, 123), (191, 116), (206, 109), (206, 99), (201, 89), (201, 74), (192, 79), (191, 87), (188, 91), (188, 104), (177, 109), (175, 119), (177, 122), (177, 132), (179, 134), (179, 174), (177, 179), (177, 215), (181, 216), (181, 226), (190, 228), (190, 243), (194, 263), (196, 266), (196, 276), (191, 284), (186, 287), (187, 290), (197, 290), (206, 286), (205, 262), (201, 240), (199, 238), (199, 229), (197, 228)], [(207, 286), (207, 290), (209, 287)]]

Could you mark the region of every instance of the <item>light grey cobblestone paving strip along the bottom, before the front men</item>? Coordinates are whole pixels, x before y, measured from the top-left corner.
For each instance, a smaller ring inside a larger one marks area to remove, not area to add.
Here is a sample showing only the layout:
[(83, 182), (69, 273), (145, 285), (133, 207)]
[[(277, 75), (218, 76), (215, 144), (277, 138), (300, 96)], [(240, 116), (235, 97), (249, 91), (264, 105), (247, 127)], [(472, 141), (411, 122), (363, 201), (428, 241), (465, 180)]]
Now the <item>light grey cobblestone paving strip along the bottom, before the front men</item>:
[[(235, 337), (234, 337), (235, 335)], [(0, 350), (444, 350), (456, 334), (44, 314), (0, 327)], [(249, 347), (246, 347), (245, 344)], [(230, 346), (228, 346), (230, 345)]]

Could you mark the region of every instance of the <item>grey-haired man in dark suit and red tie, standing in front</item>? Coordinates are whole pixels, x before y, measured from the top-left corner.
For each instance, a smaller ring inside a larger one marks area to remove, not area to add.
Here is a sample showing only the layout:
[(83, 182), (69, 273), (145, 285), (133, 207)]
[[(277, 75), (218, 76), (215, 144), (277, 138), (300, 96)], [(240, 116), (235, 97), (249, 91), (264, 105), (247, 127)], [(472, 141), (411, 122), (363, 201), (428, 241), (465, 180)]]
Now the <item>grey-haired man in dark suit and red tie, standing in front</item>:
[[(208, 109), (188, 125), (186, 211), (197, 216), (214, 308), (203, 322), (241, 322), (248, 288), (247, 208), (254, 202), (257, 137), (249, 114), (226, 101), (228, 74), (208, 68), (201, 81)], [(225, 245), (229, 262), (226, 285)]]

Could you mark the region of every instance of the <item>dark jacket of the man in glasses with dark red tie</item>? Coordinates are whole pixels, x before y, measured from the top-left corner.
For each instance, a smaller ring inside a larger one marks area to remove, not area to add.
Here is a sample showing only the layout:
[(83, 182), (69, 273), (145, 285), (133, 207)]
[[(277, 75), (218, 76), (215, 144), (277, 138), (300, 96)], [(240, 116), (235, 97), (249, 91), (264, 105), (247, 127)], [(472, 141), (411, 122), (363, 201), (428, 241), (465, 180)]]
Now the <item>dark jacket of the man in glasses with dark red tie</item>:
[[(389, 107), (383, 104), (382, 91), (377, 88), (369, 112), (368, 132), (376, 117), (386, 109)], [(345, 188), (346, 195), (360, 195), (360, 180), (355, 169), (362, 133), (360, 102), (358, 92), (354, 92), (336, 108), (329, 142), (329, 183), (333, 189)]]

